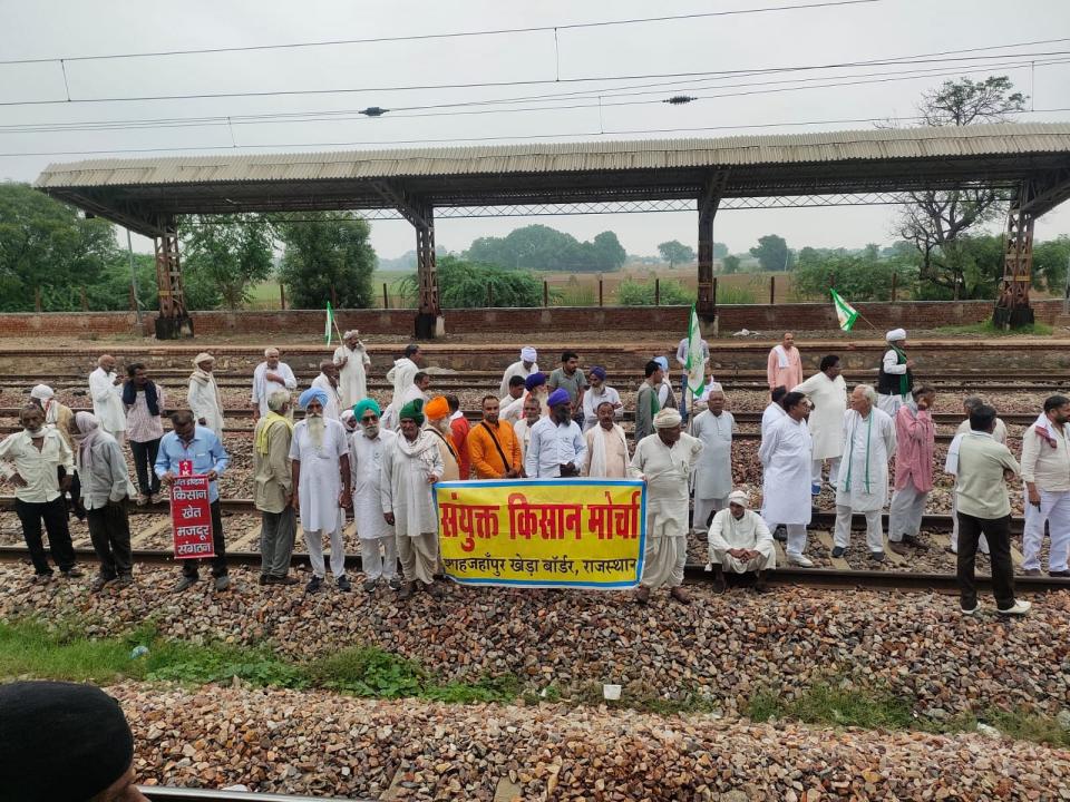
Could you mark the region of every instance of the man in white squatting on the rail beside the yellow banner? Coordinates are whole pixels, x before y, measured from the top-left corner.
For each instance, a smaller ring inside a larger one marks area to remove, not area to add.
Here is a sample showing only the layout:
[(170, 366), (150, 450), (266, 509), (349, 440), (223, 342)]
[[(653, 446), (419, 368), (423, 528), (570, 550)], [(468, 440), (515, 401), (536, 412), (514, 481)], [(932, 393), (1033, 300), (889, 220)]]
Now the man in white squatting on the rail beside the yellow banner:
[(757, 512), (747, 509), (749, 499), (742, 490), (728, 496), (728, 509), (713, 516), (710, 525), (710, 564), (713, 568), (713, 593), (724, 593), (724, 571), (755, 571), (755, 590), (766, 589), (766, 571), (777, 567), (777, 554), (769, 527)]

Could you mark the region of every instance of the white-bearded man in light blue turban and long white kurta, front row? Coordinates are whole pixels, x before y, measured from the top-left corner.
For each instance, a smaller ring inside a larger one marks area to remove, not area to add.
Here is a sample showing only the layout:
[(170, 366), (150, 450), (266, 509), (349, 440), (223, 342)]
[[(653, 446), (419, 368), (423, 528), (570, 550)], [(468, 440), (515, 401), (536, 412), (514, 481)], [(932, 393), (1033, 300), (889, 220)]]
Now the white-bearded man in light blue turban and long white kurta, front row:
[(342, 527), (346, 524), (344, 510), (352, 502), (352, 475), (346, 428), (337, 420), (324, 418), (327, 393), (319, 388), (305, 390), (298, 403), (304, 409), (305, 417), (293, 428), (290, 460), (293, 487), (298, 489), (295, 506), (312, 564), (312, 579), (305, 593), (315, 593), (323, 587), (327, 574), (323, 568), (324, 535), (331, 538), (331, 574), (338, 581), (338, 589), (348, 591), (352, 585), (346, 576)]

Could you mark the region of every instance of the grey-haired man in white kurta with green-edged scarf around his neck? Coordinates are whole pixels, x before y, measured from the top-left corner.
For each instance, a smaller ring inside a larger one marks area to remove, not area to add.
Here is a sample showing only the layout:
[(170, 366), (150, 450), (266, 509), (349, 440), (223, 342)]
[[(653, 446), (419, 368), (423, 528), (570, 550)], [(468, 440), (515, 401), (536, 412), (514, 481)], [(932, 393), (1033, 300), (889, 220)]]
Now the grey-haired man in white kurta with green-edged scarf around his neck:
[(881, 510), (888, 500), (888, 460), (895, 456), (895, 422), (877, 407), (877, 392), (859, 384), (844, 414), (844, 456), (836, 487), (836, 532), (833, 557), (843, 557), (850, 544), (850, 517), (866, 517), (869, 559), (884, 561)]

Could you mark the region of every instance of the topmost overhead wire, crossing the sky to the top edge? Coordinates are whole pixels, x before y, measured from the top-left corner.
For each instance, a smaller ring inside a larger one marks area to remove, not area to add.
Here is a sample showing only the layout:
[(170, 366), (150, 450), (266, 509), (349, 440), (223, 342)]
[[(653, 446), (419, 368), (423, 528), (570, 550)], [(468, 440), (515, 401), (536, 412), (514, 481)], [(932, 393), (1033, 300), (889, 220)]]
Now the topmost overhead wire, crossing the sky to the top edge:
[(546, 33), (558, 30), (575, 30), (582, 28), (606, 28), (612, 26), (628, 26), (628, 25), (644, 25), (648, 22), (672, 22), (678, 20), (691, 20), (691, 19), (703, 19), (711, 17), (739, 17), (743, 14), (752, 13), (770, 13), (779, 11), (805, 11), (810, 9), (819, 8), (829, 8), (835, 6), (863, 6), (875, 2), (882, 2), (882, 0), (821, 0), (820, 2), (808, 2), (799, 3), (795, 6), (765, 6), (759, 8), (749, 8), (749, 9), (730, 9), (728, 11), (698, 11), (694, 13), (685, 14), (664, 14), (660, 17), (635, 17), (631, 19), (623, 20), (599, 20), (594, 22), (562, 22), (558, 25), (543, 25), (543, 26), (528, 26), (521, 28), (497, 28), (490, 30), (475, 30), (475, 31), (453, 31), (446, 33), (410, 33), (403, 36), (387, 36), (387, 37), (367, 37), (361, 39), (329, 39), (324, 41), (311, 41), (311, 42), (290, 42), (281, 45), (244, 45), (244, 46), (234, 46), (234, 47), (218, 47), (218, 48), (191, 48), (186, 50), (155, 50), (155, 51), (144, 51), (144, 52), (127, 52), (127, 53), (103, 53), (97, 56), (50, 56), (50, 57), (37, 57), (37, 58), (25, 58), (25, 59), (3, 59), (0, 60), (0, 66), (3, 65), (26, 65), (26, 63), (50, 63), (56, 61), (61, 62), (71, 62), (71, 61), (103, 61), (109, 59), (130, 59), (130, 58), (158, 58), (165, 56), (203, 56), (210, 53), (225, 53), (225, 52), (251, 52), (257, 50), (294, 50), (300, 48), (317, 48), (317, 47), (339, 47), (346, 45), (369, 45), (369, 43), (382, 43), (382, 42), (402, 42), (402, 41), (424, 41), (430, 39), (458, 39), (464, 37), (483, 37), (483, 36), (503, 36), (503, 35), (515, 35), (515, 33)]

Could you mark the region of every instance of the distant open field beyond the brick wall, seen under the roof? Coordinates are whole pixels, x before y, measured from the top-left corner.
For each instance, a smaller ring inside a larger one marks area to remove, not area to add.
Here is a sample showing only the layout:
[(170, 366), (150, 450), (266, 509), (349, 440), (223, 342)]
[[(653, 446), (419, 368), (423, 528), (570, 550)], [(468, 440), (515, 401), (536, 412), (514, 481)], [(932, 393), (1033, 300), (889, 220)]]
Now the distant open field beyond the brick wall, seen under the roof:
[[(395, 292), (398, 281), (409, 275), (409, 271), (377, 271), (372, 276), (373, 304), (382, 306), (382, 285), (386, 283), (391, 307), (406, 305)], [(593, 306), (599, 303), (597, 273), (564, 273), (558, 271), (535, 271), (535, 275), (545, 281), (557, 305)], [(778, 303), (805, 301), (798, 297), (790, 273), (736, 273), (718, 275), (717, 297), (719, 303), (769, 303), (769, 280), (776, 276)], [(694, 293), (698, 276), (694, 265), (685, 267), (625, 267), (621, 271), (601, 274), (602, 297), (605, 305), (616, 302), (616, 290), (623, 281), (651, 283), (654, 278), (672, 281)], [(257, 284), (252, 291), (251, 309), (279, 309), (279, 283), (274, 281)], [(324, 299), (325, 301), (325, 299)], [(288, 301), (289, 305), (289, 301)], [(409, 303), (408, 305), (412, 305)]]

